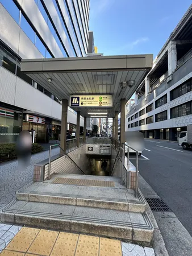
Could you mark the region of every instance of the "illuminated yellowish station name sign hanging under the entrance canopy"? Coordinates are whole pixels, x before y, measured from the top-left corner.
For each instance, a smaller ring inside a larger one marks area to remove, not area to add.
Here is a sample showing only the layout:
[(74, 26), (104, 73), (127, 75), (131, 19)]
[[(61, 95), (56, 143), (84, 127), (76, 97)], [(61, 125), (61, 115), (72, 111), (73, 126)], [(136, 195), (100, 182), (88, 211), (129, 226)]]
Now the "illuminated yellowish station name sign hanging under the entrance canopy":
[(70, 106), (112, 108), (112, 95), (73, 95), (70, 96)]

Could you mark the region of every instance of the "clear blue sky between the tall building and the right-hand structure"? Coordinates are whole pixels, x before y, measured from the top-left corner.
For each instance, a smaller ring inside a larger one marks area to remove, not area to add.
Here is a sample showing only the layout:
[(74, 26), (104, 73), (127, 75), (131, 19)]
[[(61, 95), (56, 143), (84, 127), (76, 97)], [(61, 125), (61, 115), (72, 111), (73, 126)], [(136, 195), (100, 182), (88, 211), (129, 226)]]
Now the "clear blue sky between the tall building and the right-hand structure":
[(191, 0), (90, 0), (90, 30), (104, 55), (156, 57)]

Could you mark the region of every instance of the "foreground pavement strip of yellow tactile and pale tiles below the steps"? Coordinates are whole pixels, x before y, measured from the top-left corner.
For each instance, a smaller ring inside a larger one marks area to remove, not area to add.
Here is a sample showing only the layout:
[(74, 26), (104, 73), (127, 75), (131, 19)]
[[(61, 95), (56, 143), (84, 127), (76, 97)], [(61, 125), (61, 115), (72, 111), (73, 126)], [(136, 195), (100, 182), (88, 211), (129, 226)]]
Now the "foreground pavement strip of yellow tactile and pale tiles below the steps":
[(154, 250), (105, 237), (0, 224), (1, 255), (155, 256)]

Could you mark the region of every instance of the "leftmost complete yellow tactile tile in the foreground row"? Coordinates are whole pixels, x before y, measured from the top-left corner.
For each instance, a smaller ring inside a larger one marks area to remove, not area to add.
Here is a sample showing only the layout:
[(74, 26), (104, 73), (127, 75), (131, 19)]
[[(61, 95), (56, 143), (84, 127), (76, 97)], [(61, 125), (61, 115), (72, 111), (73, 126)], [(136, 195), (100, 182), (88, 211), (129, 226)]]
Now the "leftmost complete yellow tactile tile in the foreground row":
[(6, 249), (27, 253), (39, 231), (40, 229), (22, 228), (9, 245), (7, 245)]

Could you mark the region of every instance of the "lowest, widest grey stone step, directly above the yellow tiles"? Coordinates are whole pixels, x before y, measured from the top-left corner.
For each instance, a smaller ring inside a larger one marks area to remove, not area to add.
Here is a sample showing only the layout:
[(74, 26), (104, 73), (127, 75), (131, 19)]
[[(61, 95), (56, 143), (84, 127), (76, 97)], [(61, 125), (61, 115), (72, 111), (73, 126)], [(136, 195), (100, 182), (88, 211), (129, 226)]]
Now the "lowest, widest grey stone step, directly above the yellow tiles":
[(149, 245), (153, 225), (146, 213), (75, 205), (13, 201), (2, 210), (2, 222), (114, 237)]

